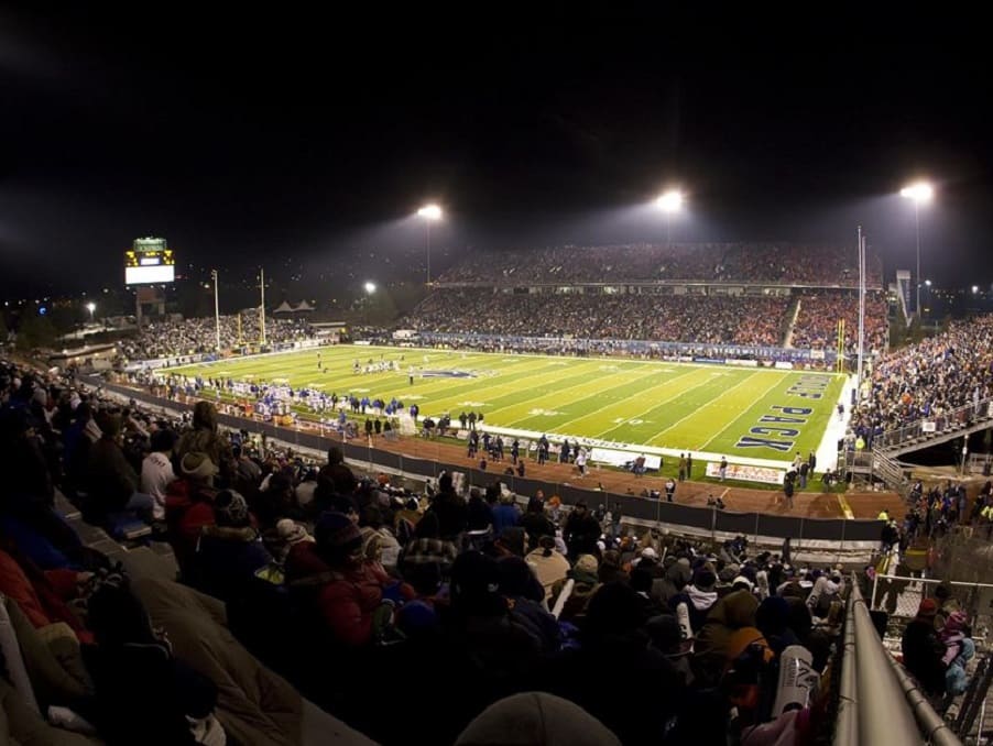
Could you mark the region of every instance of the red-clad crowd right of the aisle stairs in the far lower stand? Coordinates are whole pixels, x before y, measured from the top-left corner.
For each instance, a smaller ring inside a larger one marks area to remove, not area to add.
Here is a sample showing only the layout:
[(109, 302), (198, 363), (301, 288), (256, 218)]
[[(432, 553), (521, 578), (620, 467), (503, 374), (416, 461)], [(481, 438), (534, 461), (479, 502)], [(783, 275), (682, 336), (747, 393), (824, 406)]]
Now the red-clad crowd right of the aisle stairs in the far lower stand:
[[(882, 352), (887, 345), (887, 308), (882, 293), (865, 294), (864, 333), (869, 352)], [(854, 293), (804, 293), (793, 325), (790, 344), (795, 348), (825, 350), (838, 344), (838, 321), (844, 319), (844, 352), (859, 350), (859, 297)]]

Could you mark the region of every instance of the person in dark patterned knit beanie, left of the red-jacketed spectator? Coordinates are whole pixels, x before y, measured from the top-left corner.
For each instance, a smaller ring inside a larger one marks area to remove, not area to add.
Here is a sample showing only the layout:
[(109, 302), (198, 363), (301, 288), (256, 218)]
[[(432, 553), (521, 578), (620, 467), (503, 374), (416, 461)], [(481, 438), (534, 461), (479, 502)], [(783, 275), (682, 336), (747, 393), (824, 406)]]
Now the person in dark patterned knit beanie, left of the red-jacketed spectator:
[(204, 526), (195, 555), (194, 586), (221, 601), (241, 597), (255, 573), (273, 561), (252, 526), (248, 503), (233, 490), (214, 501), (216, 524)]

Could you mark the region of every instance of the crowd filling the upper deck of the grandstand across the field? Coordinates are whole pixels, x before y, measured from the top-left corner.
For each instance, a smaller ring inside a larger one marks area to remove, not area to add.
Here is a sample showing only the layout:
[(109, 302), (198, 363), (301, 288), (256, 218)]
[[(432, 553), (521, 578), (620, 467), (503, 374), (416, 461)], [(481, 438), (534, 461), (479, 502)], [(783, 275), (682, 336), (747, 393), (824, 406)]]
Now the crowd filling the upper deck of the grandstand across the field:
[[(882, 264), (869, 259), (867, 287), (882, 286)], [(480, 253), (438, 282), (490, 285), (659, 281), (858, 285), (855, 252), (789, 243), (677, 243), (554, 246)]]

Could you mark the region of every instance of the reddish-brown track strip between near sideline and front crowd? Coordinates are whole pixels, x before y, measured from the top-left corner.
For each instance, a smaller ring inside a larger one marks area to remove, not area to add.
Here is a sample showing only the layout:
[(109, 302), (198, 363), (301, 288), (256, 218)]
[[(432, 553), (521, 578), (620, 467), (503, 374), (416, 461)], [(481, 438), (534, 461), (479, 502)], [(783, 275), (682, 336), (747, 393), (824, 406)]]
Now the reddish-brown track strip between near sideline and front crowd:
[[(375, 438), (373, 447), (393, 453), (402, 453), (418, 459), (439, 460), (446, 463), (474, 469), (479, 465), (476, 459), (466, 457), (465, 447), (445, 443), (437, 440), (425, 440), (419, 437), (405, 437), (396, 442), (388, 442), (384, 438)], [(501, 463), (491, 462), (488, 471), (494, 476), (501, 474), (510, 464), (510, 459)], [(546, 480), (548, 482), (568, 483), (572, 487), (594, 491), (598, 482), (608, 492), (625, 494), (629, 490), (641, 494), (642, 490), (657, 490), (665, 494), (665, 479), (653, 476), (635, 476), (628, 472), (612, 469), (588, 469), (587, 476), (579, 479), (575, 465), (548, 462), (539, 467), (536, 461), (525, 462), (526, 479)], [(727, 489), (727, 494), (724, 490)], [(899, 495), (893, 492), (869, 492), (844, 494), (798, 492), (794, 496), (794, 507), (786, 506), (782, 492), (767, 490), (748, 490), (744, 487), (723, 487), (717, 482), (683, 482), (676, 487), (676, 502), (683, 505), (706, 506), (709, 495), (723, 495), (729, 511), (742, 513), (765, 513), (770, 515), (803, 516), (806, 518), (843, 518), (843, 504), (851, 508), (855, 518), (875, 518), (884, 507), (890, 515), (903, 517), (906, 506)], [(591, 500), (593, 500), (591, 497)]]

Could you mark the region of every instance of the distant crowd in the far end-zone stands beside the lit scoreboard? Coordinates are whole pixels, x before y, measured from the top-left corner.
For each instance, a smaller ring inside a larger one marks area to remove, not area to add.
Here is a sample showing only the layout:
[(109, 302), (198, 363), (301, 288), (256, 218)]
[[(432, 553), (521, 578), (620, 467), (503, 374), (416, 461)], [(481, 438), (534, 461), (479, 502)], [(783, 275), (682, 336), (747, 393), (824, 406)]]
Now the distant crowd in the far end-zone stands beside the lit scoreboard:
[[(269, 344), (310, 339), (313, 331), (306, 321), (265, 319), (265, 340)], [(220, 317), (220, 347), (231, 350), (255, 344), (262, 338), (257, 314)], [(132, 338), (119, 343), (121, 355), (128, 361), (188, 356), (217, 350), (217, 325), (214, 317), (179, 321), (152, 321)]]

